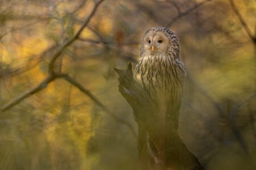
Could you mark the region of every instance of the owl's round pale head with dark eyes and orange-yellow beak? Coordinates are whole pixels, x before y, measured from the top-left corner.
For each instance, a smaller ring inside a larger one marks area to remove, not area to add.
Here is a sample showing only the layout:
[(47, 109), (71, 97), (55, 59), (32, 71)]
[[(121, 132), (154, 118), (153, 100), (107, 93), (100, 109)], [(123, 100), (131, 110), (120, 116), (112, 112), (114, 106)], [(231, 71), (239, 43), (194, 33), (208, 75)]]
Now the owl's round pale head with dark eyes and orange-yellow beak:
[(145, 55), (170, 54), (179, 57), (176, 35), (167, 28), (150, 28), (142, 38), (141, 57)]

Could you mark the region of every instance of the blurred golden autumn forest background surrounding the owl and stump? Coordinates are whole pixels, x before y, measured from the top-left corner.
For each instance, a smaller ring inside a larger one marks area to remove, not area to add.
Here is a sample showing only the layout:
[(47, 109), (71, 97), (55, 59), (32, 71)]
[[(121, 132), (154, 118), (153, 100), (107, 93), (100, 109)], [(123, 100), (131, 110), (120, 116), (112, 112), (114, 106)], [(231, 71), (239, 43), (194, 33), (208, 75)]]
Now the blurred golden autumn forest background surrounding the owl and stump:
[(0, 0), (0, 169), (137, 169), (113, 67), (144, 31), (179, 38), (179, 134), (207, 169), (254, 169), (253, 0)]

